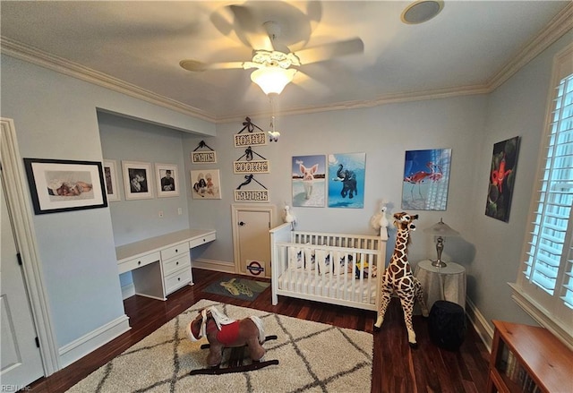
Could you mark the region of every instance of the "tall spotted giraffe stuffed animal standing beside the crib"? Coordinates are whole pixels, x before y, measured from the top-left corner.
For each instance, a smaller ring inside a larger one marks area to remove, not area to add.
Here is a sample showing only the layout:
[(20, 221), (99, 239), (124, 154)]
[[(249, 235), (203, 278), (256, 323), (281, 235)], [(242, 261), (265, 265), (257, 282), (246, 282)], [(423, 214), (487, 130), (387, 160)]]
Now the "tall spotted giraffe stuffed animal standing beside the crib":
[(415, 299), (422, 306), (423, 316), (428, 316), (428, 307), (423, 300), (422, 285), (412, 274), (407, 256), (410, 232), (415, 230), (413, 221), (417, 218), (417, 214), (410, 215), (406, 212), (394, 214), (394, 226), (398, 228), (396, 246), (394, 247), (389, 267), (382, 277), (380, 311), (378, 312), (378, 319), (374, 323), (374, 331), (378, 331), (384, 321), (384, 314), (388, 308), (390, 296), (396, 293), (404, 311), (404, 321), (408, 330), (408, 344), (413, 348), (417, 346), (415, 331), (412, 326), (412, 310), (414, 309)]

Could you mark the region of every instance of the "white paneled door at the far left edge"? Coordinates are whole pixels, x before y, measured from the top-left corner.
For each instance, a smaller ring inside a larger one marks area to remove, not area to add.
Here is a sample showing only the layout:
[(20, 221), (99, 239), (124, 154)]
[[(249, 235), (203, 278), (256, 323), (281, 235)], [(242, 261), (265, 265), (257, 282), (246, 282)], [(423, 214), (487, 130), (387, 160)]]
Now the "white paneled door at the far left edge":
[(36, 345), (36, 329), (30, 311), (30, 302), (24, 286), (18, 251), (13, 235), (6, 198), (4, 178), (0, 171), (0, 348), (2, 387), (10, 390), (25, 389), (44, 375), (42, 359)]

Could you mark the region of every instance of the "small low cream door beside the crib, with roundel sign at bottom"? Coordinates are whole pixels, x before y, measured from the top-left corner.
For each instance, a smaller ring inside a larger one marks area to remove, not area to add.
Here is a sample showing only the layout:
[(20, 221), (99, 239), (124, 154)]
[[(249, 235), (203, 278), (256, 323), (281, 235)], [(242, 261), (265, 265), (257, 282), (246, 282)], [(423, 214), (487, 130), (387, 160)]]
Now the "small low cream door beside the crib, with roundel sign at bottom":
[(271, 209), (235, 208), (235, 271), (270, 277)]

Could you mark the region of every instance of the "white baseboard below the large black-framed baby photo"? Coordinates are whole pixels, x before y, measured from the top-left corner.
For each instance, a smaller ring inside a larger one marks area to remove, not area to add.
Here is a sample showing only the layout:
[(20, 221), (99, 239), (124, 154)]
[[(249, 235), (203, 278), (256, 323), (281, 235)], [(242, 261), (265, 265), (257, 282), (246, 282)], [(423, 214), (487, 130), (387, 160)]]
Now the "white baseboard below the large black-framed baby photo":
[(58, 350), (60, 355), (60, 367), (64, 368), (72, 364), (83, 356), (90, 354), (90, 352), (95, 351), (98, 347), (107, 344), (115, 337), (124, 334), (129, 329), (132, 329), (129, 326), (129, 317), (124, 314), (98, 329), (90, 331), (90, 333), (74, 340), (70, 344), (62, 346)]

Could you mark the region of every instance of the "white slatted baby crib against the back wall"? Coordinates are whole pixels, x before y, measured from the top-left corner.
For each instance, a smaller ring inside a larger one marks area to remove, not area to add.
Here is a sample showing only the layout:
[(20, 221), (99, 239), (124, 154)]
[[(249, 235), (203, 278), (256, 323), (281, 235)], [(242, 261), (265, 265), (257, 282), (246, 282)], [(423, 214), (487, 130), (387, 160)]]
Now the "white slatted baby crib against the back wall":
[(378, 311), (387, 239), (291, 230), (270, 231), (272, 303), (278, 295)]

